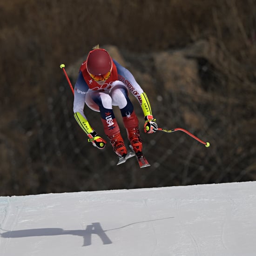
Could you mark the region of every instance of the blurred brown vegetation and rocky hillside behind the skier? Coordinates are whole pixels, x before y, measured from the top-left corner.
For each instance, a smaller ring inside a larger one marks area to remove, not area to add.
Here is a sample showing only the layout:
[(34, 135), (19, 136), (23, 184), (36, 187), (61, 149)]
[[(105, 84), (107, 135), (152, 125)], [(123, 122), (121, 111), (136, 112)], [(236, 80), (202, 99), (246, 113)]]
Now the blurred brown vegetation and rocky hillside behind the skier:
[[(88, 144), (59, 65), (74, 84), (98, 43), (135, 75), (159, 126), (211, 147), (141, 133), (151, 167), (139, 169)], [(0, 0), (0, 195), (255, 180), (255, 67), (256, 0)]]

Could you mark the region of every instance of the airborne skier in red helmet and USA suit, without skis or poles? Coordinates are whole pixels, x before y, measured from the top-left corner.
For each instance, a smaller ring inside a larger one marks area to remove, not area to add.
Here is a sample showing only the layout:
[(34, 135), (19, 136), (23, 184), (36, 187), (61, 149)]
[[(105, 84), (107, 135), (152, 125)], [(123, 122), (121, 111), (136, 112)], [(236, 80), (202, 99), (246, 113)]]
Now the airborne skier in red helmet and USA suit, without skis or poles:
[(128, 91), (140, 102), (145, 116), (145, 133), (156, 132), (158, 126), (152, 115), (148, 97), (135, 81), (134, 76), (113, 60), (105, 49), (100, 48), (99, 45), (93, 47), (87, 60), (80, 67), (74, 86), (74, 117), (92, 144), (102, 149), (105, 148), (107, 142), (90, 126), (84, 114), (84, 104), (100, 112), (104, 132), (120, 158), (125, 158), (128, 152), (112, 106), (120, 108), (132, 149), (137, 157), (142, 155), (139, 122), (134, 106), (128, 98)]

